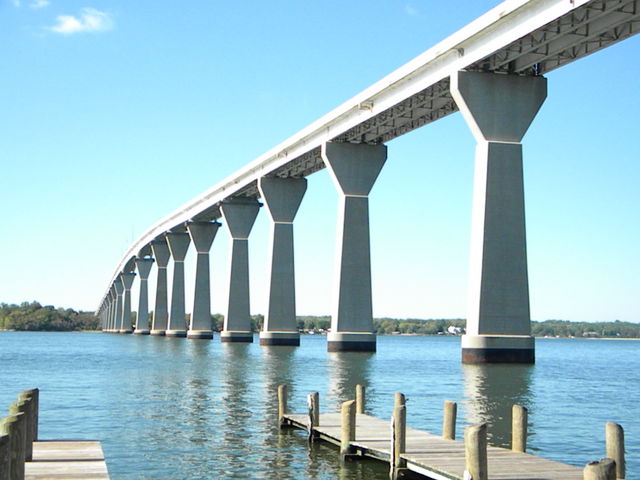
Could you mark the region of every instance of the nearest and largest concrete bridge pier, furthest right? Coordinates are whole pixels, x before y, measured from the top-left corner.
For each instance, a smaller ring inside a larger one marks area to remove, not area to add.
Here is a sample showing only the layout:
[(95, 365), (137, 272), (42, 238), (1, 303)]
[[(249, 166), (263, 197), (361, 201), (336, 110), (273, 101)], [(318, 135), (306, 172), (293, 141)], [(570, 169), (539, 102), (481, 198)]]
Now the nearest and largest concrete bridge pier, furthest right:
[(522, 144), (546, 79), (457, 72), (451, 93), (476, 138), (464, 363), (534, 363)]

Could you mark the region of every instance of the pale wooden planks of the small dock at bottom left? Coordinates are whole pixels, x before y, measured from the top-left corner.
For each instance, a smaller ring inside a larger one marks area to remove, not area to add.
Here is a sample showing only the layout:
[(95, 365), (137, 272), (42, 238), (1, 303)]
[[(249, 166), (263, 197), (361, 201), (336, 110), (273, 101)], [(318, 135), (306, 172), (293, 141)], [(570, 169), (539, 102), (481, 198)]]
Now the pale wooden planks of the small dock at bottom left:
[(109, 480), (100, 442), (49, 440), (33, 443), (26, 480)]

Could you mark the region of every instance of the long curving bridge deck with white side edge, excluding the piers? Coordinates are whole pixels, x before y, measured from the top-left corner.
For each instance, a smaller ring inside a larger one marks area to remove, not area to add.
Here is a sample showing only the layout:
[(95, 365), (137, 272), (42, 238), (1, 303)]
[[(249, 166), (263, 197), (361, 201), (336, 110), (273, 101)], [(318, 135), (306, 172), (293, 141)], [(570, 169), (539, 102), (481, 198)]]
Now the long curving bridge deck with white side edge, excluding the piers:
[[(127, 250), (109, 286), (159, 235), (200, 217), (219, 218), (218, 204), (225, 199), (259, 196), (258, 178), (305, 176), (322, 169), (318, 150), (323, 143), (385, 142), (455, 112), (448, 92), (452, 72), (544, 74), (638, 33), (638, 10), (640, 0), (508, 0), (498, 5), (153, 225)], [(582, 28), (594, 33), (578, 33)], [(403, 116), (409, 120), (403, 123)]]

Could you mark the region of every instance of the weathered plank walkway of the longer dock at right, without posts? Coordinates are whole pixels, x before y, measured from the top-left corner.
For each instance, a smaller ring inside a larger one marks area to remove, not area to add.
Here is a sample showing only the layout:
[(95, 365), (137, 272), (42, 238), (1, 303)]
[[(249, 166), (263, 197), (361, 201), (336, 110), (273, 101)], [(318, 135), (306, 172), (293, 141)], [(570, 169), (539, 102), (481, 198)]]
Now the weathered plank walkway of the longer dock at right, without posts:
[[(287, 414), (286, 424), (307, 428), (307, 415)], [(323, 440), (340, 444), (340, 413), (320, 414), (316, 434)], [(356, 416), (356, 439), (353, 449), (364, 456), (389, 461), (389, 421), (370, 415)], [(582, 469), (527, 453), (489, 447), (488, 469), (491, 480), (582, 480)], [(462, 479), (465, 468), (464, 443), (444, 440), (439, 435), (407, 427), (407, 468), (435, 480)]]

